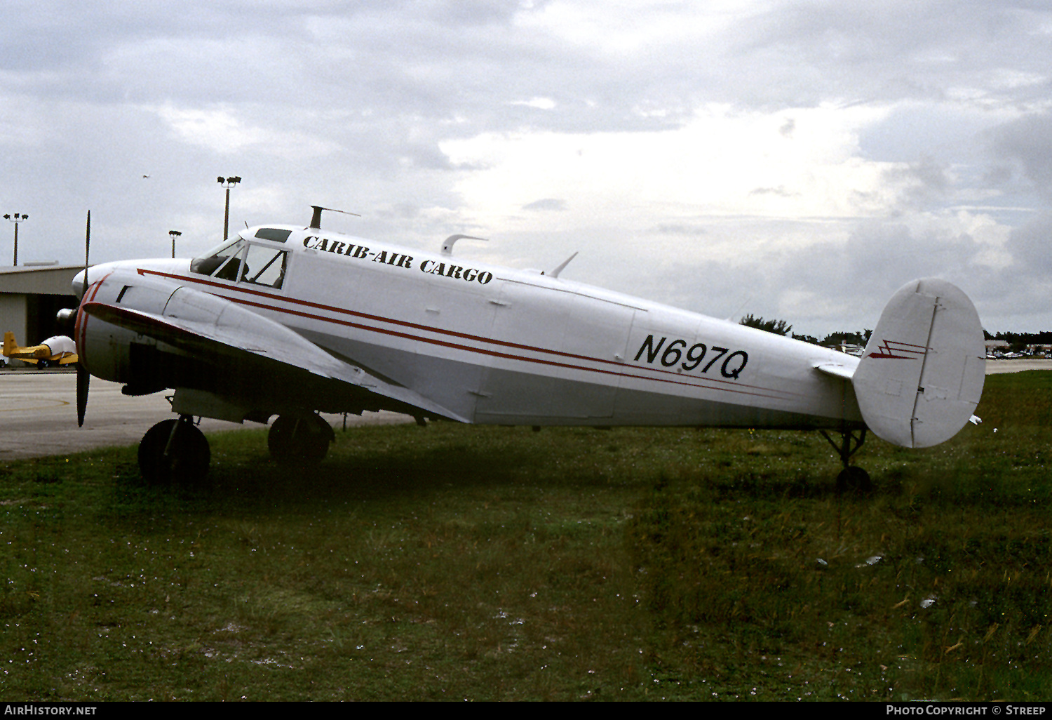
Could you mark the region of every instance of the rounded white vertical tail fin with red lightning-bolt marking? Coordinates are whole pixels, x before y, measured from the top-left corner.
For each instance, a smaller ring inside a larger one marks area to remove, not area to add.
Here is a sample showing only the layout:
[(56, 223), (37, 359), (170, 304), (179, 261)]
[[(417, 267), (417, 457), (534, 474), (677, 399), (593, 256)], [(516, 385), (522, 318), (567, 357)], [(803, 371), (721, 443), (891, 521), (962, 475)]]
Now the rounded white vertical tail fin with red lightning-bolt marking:
[(983, 325), (960, 289), (914, 280), (888, 302), (851, 379), (878, 438), (929, 447), (965, 426), (986, 379)]

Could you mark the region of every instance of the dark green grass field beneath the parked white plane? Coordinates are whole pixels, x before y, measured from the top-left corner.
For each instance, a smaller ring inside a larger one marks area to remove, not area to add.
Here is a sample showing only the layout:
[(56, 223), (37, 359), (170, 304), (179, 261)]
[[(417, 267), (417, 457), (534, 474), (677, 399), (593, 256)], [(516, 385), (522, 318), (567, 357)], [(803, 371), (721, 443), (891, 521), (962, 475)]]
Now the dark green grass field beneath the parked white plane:
[(438, 423), (0, 466), (0, 697), (1052, 699), (1052, 373), (953, 441)]

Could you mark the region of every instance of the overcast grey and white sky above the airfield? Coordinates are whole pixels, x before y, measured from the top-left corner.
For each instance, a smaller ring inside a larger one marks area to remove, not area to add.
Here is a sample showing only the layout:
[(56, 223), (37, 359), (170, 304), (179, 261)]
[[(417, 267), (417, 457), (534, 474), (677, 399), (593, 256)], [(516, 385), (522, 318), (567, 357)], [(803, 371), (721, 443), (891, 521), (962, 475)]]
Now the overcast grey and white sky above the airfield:
[[(1052, 329), (1047, 0), (6, 0), (19, 262), (306, 224), (822, 336), (910, 279)], [(148, 176), (148, 177), (144, 177)], [(0, 263), (14, 228), (0, 226)]]

